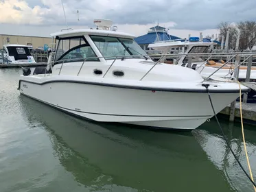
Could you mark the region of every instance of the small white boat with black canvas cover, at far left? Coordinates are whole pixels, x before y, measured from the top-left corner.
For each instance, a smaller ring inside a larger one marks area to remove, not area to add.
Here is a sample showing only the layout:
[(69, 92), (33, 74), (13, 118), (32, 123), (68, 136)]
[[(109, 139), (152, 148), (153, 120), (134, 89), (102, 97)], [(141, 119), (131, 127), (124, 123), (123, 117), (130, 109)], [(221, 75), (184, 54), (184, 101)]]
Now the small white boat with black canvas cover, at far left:
[[(23, 63), (36, 63), (34, 57), (30, 53), (30, 46), (7, 44), (3, 45), (3, 61), (5, 63), (23, 64)], [(0, 51), (0, 53), (1, 53)], [(2, 59), (2, 55), (1, 55)]]

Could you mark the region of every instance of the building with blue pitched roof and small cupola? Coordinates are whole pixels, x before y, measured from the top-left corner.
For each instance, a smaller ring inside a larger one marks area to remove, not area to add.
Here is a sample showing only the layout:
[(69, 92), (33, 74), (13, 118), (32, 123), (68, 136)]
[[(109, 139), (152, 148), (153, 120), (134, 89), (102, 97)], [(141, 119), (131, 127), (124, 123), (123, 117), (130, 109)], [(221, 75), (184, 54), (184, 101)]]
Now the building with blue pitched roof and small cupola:
[(148, 31), (148, 34), (145, 34), (143, 36), (138, 36), (135, 38), (135, 41), (141, 46), (141, 48), (146, 51), (146, 53), (154, 53), (154, 50), (151, 48), (148, 48), (148, 45), (150, 43), (154, 43), (156, 41), (161, 40), (175, 40), (179, 39), (177, 36), (172, 36), (170, 34), (167, 34), (167, 30), (165, 27), (161, 27), (159, 25), (156, 25), (155, 27), (151, 27)]

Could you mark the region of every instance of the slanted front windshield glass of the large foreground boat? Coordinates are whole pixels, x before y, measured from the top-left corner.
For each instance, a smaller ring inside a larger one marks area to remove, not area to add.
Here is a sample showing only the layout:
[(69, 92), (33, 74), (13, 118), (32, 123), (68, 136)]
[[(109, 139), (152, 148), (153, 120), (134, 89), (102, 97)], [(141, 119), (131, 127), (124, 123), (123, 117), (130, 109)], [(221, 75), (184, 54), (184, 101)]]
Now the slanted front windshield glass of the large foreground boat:
[(122, 56), (126, 56), (126, 58), (145, 58), (143, 56), (146, 55), (133, 39), (109, 36), (91, 36), (91, 39), (106, 60), (113, 60), (117, 56), (120, 56), (120, 59)]

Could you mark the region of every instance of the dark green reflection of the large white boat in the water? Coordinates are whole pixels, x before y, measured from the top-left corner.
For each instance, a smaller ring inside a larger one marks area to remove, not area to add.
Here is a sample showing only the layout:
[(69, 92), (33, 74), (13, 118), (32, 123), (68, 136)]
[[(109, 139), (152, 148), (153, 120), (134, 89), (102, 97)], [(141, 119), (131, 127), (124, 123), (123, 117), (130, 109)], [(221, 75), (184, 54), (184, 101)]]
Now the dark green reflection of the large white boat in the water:
[[(212, 145), (225, 149), (218, 132), (174, 134), (92, 123), (24, 96), (19, 99), (23, 118), (44, 126), (54, 155), (89, 191), (231, 190), (218, 167), (223, 155)], [(212, 143), (213, 138), (217, 141)]]

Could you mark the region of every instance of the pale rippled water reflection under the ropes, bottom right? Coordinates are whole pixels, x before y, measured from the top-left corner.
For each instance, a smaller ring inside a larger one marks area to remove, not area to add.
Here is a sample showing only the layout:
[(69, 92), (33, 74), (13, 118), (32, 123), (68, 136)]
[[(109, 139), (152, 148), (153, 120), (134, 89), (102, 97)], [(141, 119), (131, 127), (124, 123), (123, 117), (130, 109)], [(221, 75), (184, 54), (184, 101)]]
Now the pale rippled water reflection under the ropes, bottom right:
[[(226, 120), (226, 119), (225, 119)], [(233, 154), (229, 147), (226, 145), (223, 137), (221, 136), (220, 129), (216, 121), (213, 119), (211, 123), (202, 125), (200, 129), (193, 132), (198, 143), (202, 146), (202, 149), (207, 153), (208, 158), (220, 169), (226, 180), (229, 181), (231, 187), (237, 191), (254, 191), (253, 185), (246, 178), (244, 172), (237, 164)], [(244, 152), (244, 144), (242, 141), (242, 131), (240, 123), (226, 123), (226, 121), (220, 121), (229, 145), (231, 145), (237, 158), (242, 163), (244, 169), (248, 172), (248, 166), (246, 163), (246, 156)], [(245, 126), (245, 138), (248, 156), (251, 162), (251, 169), (256, 176), (256, 137), (255, 126)], [(248, 172), (249, 173), (249, 172)]]

